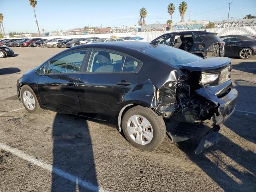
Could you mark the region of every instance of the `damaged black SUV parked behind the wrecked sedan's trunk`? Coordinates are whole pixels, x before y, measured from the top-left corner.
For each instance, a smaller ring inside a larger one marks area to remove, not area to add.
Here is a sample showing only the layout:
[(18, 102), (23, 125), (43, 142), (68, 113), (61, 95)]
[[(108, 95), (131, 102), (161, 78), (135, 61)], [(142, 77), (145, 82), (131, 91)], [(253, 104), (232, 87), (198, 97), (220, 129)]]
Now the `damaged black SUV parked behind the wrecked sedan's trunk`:
[(166, 33), (152, 40), (151, 44), (165, 44), (196, 54), (202, 58), (223, 57), (223, 42), (216, 33), (206, 31), (183, 31)]

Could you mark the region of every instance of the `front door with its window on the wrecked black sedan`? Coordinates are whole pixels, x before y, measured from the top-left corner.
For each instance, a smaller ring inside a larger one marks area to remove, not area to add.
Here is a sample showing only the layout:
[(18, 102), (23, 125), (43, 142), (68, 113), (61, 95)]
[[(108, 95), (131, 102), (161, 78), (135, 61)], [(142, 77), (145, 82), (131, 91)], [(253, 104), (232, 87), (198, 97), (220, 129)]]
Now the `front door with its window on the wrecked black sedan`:
[(86, 50), (73, 50), (48, 62), (46, 74), (38, 78), (42, 106), (77, 114), (81, 112), (77, 85)]

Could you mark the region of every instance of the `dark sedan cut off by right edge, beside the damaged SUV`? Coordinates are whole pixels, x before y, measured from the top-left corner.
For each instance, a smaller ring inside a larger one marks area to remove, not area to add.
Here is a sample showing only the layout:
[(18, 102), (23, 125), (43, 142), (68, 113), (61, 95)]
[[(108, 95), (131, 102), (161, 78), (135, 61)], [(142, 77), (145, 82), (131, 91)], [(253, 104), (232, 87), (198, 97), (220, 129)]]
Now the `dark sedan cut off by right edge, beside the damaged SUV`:
[(225, 57), (248, 59), (256, 55), (256, 40), (243, 35), (220, 36), (225, 44)]

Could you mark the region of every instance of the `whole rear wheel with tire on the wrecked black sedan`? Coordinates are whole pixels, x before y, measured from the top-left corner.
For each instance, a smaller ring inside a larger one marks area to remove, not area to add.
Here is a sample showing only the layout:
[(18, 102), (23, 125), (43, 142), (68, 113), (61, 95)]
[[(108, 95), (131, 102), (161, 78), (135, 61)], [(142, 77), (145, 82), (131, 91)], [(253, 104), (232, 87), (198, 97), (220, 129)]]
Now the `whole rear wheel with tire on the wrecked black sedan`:
[[(135, 122), (135, 124), (137, 123), (138, 126), (133, 124), (132, 121)], [(142, 124), (145, 126), (142, 127)], [(158, 116), (152, 109), (142, 106), (135, 106), (124, 114), (122, 130), (130, 144), (144, 151), (157, 148), (163, 142), (166, 135), (166, 127), (163, 118)], [(138, 140), (136, 138), (138, 138)]]

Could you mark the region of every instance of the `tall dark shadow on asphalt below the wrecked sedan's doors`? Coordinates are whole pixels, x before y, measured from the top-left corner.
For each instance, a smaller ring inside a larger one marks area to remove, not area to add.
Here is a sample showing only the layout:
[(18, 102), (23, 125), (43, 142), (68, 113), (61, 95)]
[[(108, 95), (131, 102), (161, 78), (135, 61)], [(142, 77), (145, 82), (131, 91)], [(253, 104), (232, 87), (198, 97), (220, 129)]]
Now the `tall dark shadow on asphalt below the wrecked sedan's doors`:
[[(75, 182), (52, 173), (52, 192), (89, 191), (98, 186), (88, 124), (79, 116), (57, 113), (53, 122), (53, 167)], [(83, 181), (83, 182), (81, 182)]]

